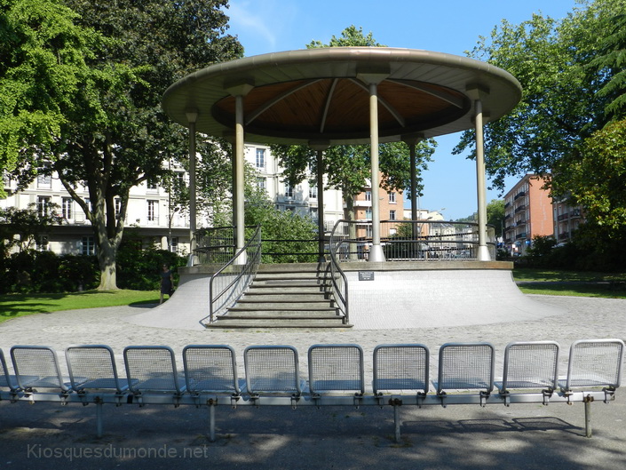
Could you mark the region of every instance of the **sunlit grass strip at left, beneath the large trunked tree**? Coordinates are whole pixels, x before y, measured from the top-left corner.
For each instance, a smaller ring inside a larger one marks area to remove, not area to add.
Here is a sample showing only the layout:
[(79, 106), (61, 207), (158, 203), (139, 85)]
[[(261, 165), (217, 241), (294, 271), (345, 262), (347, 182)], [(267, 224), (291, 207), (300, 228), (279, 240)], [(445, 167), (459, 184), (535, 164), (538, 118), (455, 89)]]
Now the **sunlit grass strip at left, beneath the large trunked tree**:
[(116, 307), (159, 301), (158, 291), (83, 291), (63, 294), (0, 295), (0, 323), (23, 315), (78, 308)]

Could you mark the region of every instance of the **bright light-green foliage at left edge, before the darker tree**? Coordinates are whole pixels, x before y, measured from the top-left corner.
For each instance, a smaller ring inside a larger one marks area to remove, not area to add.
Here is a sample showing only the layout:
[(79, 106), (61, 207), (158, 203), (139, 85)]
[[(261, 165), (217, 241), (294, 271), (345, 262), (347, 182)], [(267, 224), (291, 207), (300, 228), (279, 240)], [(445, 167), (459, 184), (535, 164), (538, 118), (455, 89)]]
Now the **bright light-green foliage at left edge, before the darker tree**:
[(36, 155), (50, 155), (82, 104), (91, 107), (85, 119), (106, 119), (99, 86), (113, 94), (135, 79), (127, 68), (90, 68), (103, 38), (58, 2), (3, 0), (0, 8), (0, 170), (20, 171), (26, 184)]

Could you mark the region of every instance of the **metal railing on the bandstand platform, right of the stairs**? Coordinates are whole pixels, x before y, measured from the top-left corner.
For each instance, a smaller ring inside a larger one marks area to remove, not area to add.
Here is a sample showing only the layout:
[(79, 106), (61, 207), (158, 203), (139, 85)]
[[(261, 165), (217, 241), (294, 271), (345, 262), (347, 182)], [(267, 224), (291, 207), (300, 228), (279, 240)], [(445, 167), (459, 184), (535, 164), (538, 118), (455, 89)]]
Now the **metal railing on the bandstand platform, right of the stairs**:
[[(339, 220), (331, 245), (337, 262), (366, 261), (372, 245), (370, 220)], [(475, 222), (384, 220), (380, 241), (387, 261), (478, 259), (479, 234)], [(495, 259), (495, 231), (487, 226), (487, 248)]]

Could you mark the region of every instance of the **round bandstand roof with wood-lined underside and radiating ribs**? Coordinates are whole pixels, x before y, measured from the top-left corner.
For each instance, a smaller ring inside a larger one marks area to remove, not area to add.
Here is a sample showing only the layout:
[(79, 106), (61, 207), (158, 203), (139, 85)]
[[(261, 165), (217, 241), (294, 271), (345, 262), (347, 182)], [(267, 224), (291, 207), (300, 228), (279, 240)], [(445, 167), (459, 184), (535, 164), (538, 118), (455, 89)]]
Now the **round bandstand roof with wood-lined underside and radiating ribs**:
[(388, 47), (275, 52), (211, 65), (172, 84), (162, 108), (196, 131), (234, 131), (234, 94), (245, 96), (246, 140), (266, 143), (369, 141), (369, 88), (377, 83), (381, 142), (435, 137), (474, 126), (472, 101), (485, 121), (511, 111), (521, 85), (508, 72), (460, 56)]

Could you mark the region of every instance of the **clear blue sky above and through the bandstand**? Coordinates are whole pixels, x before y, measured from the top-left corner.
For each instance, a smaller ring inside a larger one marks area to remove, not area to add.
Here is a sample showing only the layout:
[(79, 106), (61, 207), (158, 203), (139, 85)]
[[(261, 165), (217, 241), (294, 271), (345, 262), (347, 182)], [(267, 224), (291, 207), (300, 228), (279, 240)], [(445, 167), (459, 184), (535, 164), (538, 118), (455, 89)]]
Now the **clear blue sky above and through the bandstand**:
[[(227, 14), (228, 32), (238, 36), (246, 56), (304, 49), (313, 40), (328, 43), (351, 25), (390, 47), (464, 55), (503, 19), (518, 24), (534, 12), (560, 19), (575, 6), (576, 0), (231, 0)], [(445, 208), (446, 219), (476, 211), (475, 163), (452, 155), (458, 139), (437, 139), (434, 162), (422, 175), (420, 207)], [(498, 196), (489, 191), (487, 201)]]

